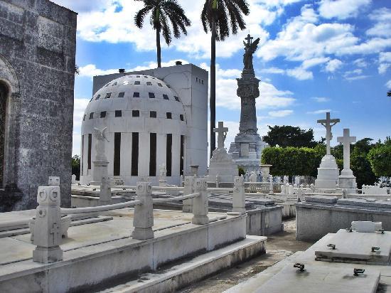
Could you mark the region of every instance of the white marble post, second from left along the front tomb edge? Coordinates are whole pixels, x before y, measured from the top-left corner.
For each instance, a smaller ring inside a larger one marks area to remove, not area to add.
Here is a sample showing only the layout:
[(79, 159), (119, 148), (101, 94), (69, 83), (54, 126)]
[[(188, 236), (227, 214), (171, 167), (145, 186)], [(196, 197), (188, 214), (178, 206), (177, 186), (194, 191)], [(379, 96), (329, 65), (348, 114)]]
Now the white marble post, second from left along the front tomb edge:
[(152, 200), (152, 188), (149, 182), (137, 182), (137, 199), (142, 204), (134, 207), (133, 239), (146, 240), (154, 238), (154, 203)]

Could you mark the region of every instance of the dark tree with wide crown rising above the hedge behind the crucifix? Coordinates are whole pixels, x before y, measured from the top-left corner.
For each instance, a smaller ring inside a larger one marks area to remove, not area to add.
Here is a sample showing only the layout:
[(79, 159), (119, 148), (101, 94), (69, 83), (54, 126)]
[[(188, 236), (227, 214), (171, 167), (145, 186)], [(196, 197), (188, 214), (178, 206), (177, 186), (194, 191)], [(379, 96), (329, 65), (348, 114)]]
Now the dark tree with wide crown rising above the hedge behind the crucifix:
[(262, 137), (264, 142), (267, 142), (270, 146), (306, 146), (314, 147), (317, 142), (314, 141), (314, 131), (301, 129), (300, 127), (294, 127), (289, 125), (283, 126), (268, 126), (269, 132)]

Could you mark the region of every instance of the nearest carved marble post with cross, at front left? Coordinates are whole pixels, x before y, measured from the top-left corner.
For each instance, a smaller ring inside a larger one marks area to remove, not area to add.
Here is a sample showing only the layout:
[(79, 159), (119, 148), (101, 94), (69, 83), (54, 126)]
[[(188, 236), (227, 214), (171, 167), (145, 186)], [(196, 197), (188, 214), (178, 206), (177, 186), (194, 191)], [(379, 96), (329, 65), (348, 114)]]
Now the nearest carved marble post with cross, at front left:
[(36, 209), (36, 222), (34, 240), (36, 249), (33, 250), (34, 262), (57, 262), (63, 260), (61, 242), (61, 211), (60, 187), (39, 186), (38, 208)]

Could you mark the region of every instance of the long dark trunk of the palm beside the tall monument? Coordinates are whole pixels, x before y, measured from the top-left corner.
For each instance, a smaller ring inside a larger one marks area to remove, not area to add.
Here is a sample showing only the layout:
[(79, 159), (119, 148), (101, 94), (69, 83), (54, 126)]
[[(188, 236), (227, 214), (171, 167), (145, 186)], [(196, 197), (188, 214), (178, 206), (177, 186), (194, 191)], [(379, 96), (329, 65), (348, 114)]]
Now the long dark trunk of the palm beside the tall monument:
[(212, 37), (210, 39), (210, 158), (216, 148), (216, 19), (212, 17)]

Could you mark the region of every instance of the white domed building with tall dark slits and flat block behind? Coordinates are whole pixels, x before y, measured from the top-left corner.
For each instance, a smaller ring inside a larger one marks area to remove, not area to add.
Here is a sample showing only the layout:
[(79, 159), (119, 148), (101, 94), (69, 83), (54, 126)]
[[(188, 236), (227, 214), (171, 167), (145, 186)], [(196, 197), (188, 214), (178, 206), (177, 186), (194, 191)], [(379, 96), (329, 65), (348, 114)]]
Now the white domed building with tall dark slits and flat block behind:
[(82, 121), (82, 183), (100, 180), (94, 176), (95, 132), (103, 129), (111, 178), (134, 184), (148, 177), (156, 184), (162, 172), (179, 184), (190, 165), (205, 174), (208, 72), (187, 64), (95, 76)]

